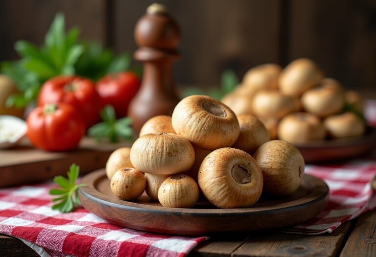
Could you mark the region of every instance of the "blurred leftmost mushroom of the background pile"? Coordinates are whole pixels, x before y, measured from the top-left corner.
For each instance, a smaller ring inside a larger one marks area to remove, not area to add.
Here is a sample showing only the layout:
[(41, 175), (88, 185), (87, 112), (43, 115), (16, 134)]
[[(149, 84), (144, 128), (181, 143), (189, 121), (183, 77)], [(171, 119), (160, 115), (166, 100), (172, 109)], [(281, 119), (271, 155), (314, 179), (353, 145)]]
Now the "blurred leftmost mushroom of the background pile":
[(247, 95), (231, 93), (226, 95), (221, 102), (230, 107), (236, 116), (252, 114), (252, 98)]

